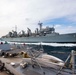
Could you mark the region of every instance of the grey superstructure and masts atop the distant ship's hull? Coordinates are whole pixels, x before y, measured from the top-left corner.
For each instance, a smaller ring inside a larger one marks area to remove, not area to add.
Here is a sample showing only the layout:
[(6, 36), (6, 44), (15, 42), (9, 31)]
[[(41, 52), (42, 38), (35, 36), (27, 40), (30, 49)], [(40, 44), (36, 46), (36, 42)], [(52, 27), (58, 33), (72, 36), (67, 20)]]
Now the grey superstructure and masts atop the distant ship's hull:
[(17, 27), (15, 27), (15, 30), (12, 30), (7, 35), (2, 36), (2, 37), (12, 38), (12, 37), (29, 37), (29, 36), (37, 36), (37, 35), (45, 36), (46, 34), (56, 33), (54, 27), (46, 27), (43, 29), (41, 22), (39, 22), (38, 25), (40, 29), (36, 28), (35, 33), (32, 33), (30, 28), (27, 28), (27, 33), (25, 33), (24, 30), (17, 33)]

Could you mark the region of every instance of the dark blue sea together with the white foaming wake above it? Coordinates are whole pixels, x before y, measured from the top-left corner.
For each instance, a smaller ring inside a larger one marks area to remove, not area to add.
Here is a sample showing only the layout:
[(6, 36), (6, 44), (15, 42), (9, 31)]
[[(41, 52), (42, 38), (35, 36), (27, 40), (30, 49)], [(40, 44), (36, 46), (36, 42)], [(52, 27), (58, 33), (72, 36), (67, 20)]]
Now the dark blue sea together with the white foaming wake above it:
[(66, 60), (68, 55), (72, 50), (76, 51), (76, 44), (58, 44), (58, 43), (49, 43), (49, 44), (29, 44), (34, 46), (39, 50), (40, 46), (43, 47), (44, 52), (50, 55), (54, 55), (62, 60)]

